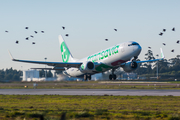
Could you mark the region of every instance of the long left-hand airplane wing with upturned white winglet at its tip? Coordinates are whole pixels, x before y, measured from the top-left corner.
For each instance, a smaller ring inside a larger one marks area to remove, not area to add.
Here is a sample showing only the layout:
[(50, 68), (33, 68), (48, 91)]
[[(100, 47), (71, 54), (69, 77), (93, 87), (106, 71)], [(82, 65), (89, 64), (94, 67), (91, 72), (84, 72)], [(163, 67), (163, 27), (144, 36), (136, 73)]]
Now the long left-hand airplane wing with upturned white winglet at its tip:
[(16, 61), (16, 62), (44, 64), (44, 65), (54, 66), (54, 67), (76, 67), (76, 68), (79, 68), (81, 66), (81, 64), (82, 64), (82, 62), (64, 63), (64, 62), (46, 62), (46, 61), (19, 60), (19, 59), (14, 59), (10, 52), (9, 52), (9, 54), (10, 54), (10, 57), (11, 57), (12, 61)]

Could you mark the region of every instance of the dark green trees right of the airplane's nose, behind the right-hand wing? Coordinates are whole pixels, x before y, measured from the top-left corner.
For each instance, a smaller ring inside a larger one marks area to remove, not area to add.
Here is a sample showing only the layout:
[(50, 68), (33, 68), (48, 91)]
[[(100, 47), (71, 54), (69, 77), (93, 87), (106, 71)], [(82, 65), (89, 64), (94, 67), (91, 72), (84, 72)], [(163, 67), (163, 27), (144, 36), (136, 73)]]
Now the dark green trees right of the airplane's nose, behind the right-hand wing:
[[(158, 55), (156, 56), (158, 57)], [(145, 54), (145, 59), (155, 59), (151, 50), (148, 50), (148, 52)], [(153, 76), (157, 74), (157, 71), (161, 78), (180, 78), (180, 55), (177, 55), (175, 58), (171, 59), (164, 59), (153, 63), (140, 64), (139, 68), (134, 72), (138, 75)]]

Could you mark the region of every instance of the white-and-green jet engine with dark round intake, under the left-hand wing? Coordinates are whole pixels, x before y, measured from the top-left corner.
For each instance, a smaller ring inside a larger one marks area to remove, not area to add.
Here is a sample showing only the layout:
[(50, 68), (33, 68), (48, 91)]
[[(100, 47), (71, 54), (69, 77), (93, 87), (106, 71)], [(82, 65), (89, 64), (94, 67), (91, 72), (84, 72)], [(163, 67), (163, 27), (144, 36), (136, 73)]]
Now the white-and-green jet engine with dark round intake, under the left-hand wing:
[(83, 62), (83, 64), (80, 66), (80, 71), (83, 73), (91, 73), (95, 68), (95, 65), (91, 61)]

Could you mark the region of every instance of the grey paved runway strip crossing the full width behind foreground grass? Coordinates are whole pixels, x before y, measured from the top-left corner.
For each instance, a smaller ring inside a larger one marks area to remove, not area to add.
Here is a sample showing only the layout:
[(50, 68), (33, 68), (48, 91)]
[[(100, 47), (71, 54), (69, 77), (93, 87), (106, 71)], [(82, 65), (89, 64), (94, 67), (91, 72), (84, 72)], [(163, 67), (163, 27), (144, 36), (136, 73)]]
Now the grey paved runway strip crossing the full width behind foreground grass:
[(180, 90), (127, 89), (0, 89), (1, 95), (113, 95), (113, 96), (180, 96)]

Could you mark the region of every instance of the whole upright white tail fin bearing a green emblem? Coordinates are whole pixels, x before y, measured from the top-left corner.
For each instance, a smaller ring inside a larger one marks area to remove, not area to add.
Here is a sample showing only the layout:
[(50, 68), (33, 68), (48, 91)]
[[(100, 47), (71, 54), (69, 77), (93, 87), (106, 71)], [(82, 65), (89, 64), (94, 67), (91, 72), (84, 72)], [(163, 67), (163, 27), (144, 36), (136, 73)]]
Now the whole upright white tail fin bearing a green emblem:
[(63, 62), (74, 62), (75, 60), (61, 35), (59, 35), (59, 43)]

